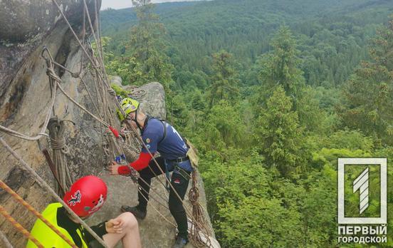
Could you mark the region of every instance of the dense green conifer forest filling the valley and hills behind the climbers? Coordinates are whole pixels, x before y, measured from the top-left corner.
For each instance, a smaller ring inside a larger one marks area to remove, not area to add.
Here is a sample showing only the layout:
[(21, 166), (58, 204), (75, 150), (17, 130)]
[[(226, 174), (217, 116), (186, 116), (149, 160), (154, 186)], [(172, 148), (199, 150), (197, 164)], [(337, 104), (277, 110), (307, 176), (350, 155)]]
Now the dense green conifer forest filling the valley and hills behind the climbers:
[(101, 29), (108, 73), (164, 86), (222, 247), (337, 247), (337, 158), (387, 157), (393, 183), (392, 14), (388, 0), (137, 4), (101, 11)]

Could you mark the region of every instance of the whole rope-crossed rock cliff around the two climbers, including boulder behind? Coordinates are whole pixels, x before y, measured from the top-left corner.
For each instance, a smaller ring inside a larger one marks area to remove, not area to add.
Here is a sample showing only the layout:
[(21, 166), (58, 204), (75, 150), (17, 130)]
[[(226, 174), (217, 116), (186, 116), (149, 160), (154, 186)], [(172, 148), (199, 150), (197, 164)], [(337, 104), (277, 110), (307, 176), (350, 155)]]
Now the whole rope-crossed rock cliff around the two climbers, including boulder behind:
[[(94, 0), (87, 1), (89, 8), (94, 8)], [(81, 0), (58, 0), (63, 4), (63, 11), (72, 21), (75, 31), (81, 36), (82, 24)], [(99, 3), (98, 3), (99, 4)], [(93, 9), (92, 9), (93, 10)], [(92, 11), (93, 13), (93, 11)], [(98, 115), (95, 105), (100, 104), (95, 91), (94, 77), (88, 71), (87, 59), (82, 58), (82, 51), (64, 21), (49, 0), (0, 0), (0, 125), (17, 130), (26, 135), (37, 135), (40, 132), (48, 105), (51, 88), (46, 75), (46, 62), (41, 58), (43, 46), (47, 46), (53, 58), (66, 66), (70, 71), (78, 72), (83, 68), (83, 78), (87, 89), (80, 78), (73, 78), (70, 73), (56, 68), (61, 78), (61, 86), (78, 103)], [(25, 19), (26, 18), (26, 19)], [(38, 29), (39, 28), (39, 29)], [(165, 118), (164, 90), (159, 83), (150, 83), (134, 89), (135, 98), (141, 101), (145, 112), (158, 118)], [(112, 99), (108, 94), (108, 98)], [(108, 108), (113, 110), (115, 118), (115, 102), (110, 101)], [(108, 162), (103, 150), (103, 128), (100, 123), (70, 102), (60, 91), (56, 93), (54, 113), (61, 119), (72, 120), (66, 124), (66, 144), (70, 149), (67, 155), (68, 165), (74, 179), (83, 175), (101, 175), (109, 186), (109, 200), (103, 211), (98, 212), (90, 222), (110, 219), (118, 214), (122, 204), (135, 204), (137, 201), (136, 186), (125, 177), (110, 177), (103, 168)], [(115, 123), (119, 128), (120, 123)], [(0, 132), (1, 138), (19, 153), (28, 165), (31, 165), (43, 180), (53, 186), (53, 175), (45, 158), (34, 141), (21, 140)], [(41, 145), (51, 150), (47, 138), (41, 138)], [(43, 190), (41, 185), (24, 170), (5, 148), (0, 145), (0, 179), (6, 182), (24, 200), (36, 210), (42, 211), (53, 198)], [(162, 185), (155, 180), (154, 188), (165, 195)], [(201, 192), (204, 202), (204, 193)], [(167, 202), (162, 202), (167, 205)], [(25, 227), (31, 229), (36, 218), (23, 206), (16, 203), (10, 195), (0, 191), (0, 205)], [(162, 211), (162, 215), (171, 220), (169, 211), (157, 203), (150, 202), (149, 214), (140, 223), (142, 243), (144, 247), (170, 247), (174, 237), (174, 227), (161, 219), (153, 208)], [(206, 209), (206, 205), (204, 205)], [(24, 247), (26, 239), (14, 227), (0, 219), (0, 230), (6, 234), (14, 247)], [(212, 230), (211, 230), (212, 231)], [(3, 244), (0, 241), (0, 247)]]

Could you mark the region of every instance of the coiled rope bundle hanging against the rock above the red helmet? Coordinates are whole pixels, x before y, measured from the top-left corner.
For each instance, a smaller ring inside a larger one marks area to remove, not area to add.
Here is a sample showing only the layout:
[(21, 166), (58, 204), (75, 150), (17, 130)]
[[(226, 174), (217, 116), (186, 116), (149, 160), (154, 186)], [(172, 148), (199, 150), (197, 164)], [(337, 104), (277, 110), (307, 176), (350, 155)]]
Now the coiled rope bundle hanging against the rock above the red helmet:
[(60, 185), (56, 185), (58, 195), (63, 195), (68, 191), (73, 184), (70, 176), (70, 171), (67, 165), (66, 154), (69, 153), (66, 145), (66, 138), (64, 138), (64, 121), (58, 120), (57, 117), (51, 118), (48, 124), (49, 136), (51, 138), (53, 164), (55, 165), (54, 175)]

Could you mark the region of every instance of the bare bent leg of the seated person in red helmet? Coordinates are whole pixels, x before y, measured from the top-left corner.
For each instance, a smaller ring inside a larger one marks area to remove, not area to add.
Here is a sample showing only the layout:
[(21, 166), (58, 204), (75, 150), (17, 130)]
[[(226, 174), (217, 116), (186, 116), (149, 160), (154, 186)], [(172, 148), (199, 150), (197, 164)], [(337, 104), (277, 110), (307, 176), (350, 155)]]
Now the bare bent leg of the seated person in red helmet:
[(125, 223), (122, 233), (105, 234), (103, 236), (105, 244), (112, 248), (121, 240), (124, 248), (141, 248), (139, 227), (135, 216), (130, 212), (124, 212), (115, 219), (122, 219)]

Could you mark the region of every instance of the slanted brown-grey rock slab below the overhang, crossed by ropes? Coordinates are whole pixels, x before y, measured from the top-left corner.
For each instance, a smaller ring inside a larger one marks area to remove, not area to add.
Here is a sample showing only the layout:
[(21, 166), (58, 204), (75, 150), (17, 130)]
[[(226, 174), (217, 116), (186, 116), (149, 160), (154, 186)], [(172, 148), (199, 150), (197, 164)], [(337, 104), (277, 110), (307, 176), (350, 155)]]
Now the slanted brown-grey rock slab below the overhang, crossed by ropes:
[[(76, 42), (70, 38), (70, 33), (65, 26), (58, 26), (43, 39), (43, 44), (53, 55), (68, 46), (63, 63), (71, 71), (80, 68), (81, 52)], [(0, 123), (8, 128), (17, 130), (26, 135), (36, 135), (43, 125), (51, 89), (46, 75), (46, 63), (41, 58), (41, 46), (32, 51), (31, 55), (23, 58), (23, 65), (17, 70), (9, 86), (0, 86), (4, 92), (0, 104)], [(84, 63), (84, 62), (83, 62)], [(59, 72), (59, 71), (58, 71)], [(60, 75), (61, 73), (59, 73)], [(80, 80), (70, 77), (68, 73), (61, 75), (64, 90), (82, 105), (93, 109), (87, 91), (81, 87)], [(85, 77), (89, 88), (93, 88), (93, 81)], [(114, 107), (113, 107), (114, 108)], [(66, 143), (70, 148), (67, 155), (71, 175), (78, 178), (82, 175), (95, 174), (103, 170), (103, 148), (101, 127), (90, 116), (76, 108), (73, 103), (58, 92), (56, 95), (55, 113), (59, 118), (73, 120), (75, 125), (67, 124)], [(4, 133), (1, 137), (19, 153), (28, 165), (31, 165), (43, 180), (53, 185), (53, 176), (46, 164), (43, 154), (38, 149), (38, 144), (32, 141), (14, 138)], [(48, 140), (41, 138), (41, 143), (48, 147)], [(50, 149), (49, 149), (50, 150)], [(19, 195), (29, 202), (36, 210), (42, 211), (48, 203), (53, 202), (52, 197), (38, 185), (27, 172), (20, 172), (18, 162), (1, 146), (0, 147), (0, 175), (1, 180), (11, 185)], [(26, 177), (28, 180), (25, 180)], [(9, 195), (0, 195), (0, 204), (4, 205), (11, 215), (26, 229), (31, 229), (36, 217), (31, 215), (24, 207), (11, 200)], [(4, 219), (0, 220), (0, 229), (9, 237), (14, 247), (24, 247), (26, 239), (16, 232)], [(0, 245), (1, 247), (1, 245)]]

